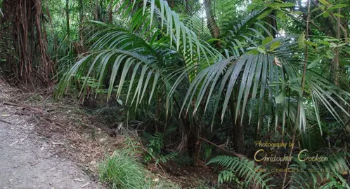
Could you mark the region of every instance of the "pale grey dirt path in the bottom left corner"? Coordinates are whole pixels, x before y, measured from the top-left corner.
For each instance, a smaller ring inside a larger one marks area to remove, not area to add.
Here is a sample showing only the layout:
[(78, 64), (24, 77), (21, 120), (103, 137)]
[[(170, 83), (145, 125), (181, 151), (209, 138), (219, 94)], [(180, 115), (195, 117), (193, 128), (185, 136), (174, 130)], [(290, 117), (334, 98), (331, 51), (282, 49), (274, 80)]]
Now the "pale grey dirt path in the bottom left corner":
[(0, 120), (0, 188), (102, 188), (74, 162), (51, 151), (60, 144), (36, 134), (34, 124), (6, 114), (4, 107)]

